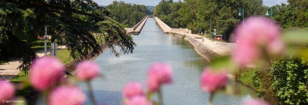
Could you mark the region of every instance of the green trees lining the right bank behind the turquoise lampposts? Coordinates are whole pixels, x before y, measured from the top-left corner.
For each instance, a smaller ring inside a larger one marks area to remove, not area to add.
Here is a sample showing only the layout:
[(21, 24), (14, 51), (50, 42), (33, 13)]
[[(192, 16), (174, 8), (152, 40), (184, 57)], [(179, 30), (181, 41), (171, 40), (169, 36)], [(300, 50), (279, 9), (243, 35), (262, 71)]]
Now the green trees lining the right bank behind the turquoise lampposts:
[[(281, 30), (292, 30), (294, 28), (308, 27), (307, 1), (289, 0), (289, 4), (275, 5), (273, 7), (273, 22), (281, 26)], [(265, 16), (268, 6), (261, 0), (184, 0), (173, 2), (172, 0), (161, 0), (154, 9), (153, 15), (160, 18), (171, 28), (188, 28), (193, 33), (200, 30), (210, 32), (210, 23), (217, 34), (223, 35), (223, 39), (233, 42), (232, 33), (236, 25), (243, 20), (238, 16), (239, 10), (244, 9), (244, 18), (250, 16)], [(269, 14), (271, 8), (269, 8)], [(242, 11), (241, 11), (241, 14)], [(210, 19), (212, 21), (210, 22)], [(201, 27), (201, 29), (200, 29)]]

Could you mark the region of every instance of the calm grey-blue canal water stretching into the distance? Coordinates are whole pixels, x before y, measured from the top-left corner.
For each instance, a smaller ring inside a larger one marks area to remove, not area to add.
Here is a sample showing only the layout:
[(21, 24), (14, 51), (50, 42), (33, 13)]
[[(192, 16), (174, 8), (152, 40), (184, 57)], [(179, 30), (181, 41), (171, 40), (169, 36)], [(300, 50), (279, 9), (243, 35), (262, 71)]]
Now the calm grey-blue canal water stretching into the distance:
[[(134, 53), (122, 54), (120, 58), (106, 50), (93, 62), (101, 67), (104, 79), (92, 82), (95, 99), (98, 103), (120, 105), (121, 90), (130, 81), (143, 84), (146, 91), (146, 72), (155, 62), (165, 62), (172, 66), (173, 83), (162, 88), (164, 105), (205, 105), (209, 93), (200, 89), (200, 76), (208, 62), (194, 50), (188, 41), (174, 35), (164, 34), (153, 18), (148, 18), (139, 35), (133, 36)], [(87, 93), (85, 83), (77, 83)], [(229, 86), (237, 90), (237, 95), (217, 93), (214, 105), (238, 105), (247, 99), (257, 97), (249, 87), (229, 81)], [(154, 96), (156, 97), (156, 96)], [(42, 104), (39, 99), (36, 104)], [(86, 105), (91, 105), (87, 93)]]

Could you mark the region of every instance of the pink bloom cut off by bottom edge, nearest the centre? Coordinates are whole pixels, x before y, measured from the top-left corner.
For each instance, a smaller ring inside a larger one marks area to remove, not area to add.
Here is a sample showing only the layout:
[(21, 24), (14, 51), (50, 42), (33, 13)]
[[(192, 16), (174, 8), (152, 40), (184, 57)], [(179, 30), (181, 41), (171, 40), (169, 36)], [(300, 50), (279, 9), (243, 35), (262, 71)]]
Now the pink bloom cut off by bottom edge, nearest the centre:
[(145, 96), (139, 95), (132, 97), (130, 100), (126, 100), (124, 105), (153, 105), (153, 103), (148, 101)]

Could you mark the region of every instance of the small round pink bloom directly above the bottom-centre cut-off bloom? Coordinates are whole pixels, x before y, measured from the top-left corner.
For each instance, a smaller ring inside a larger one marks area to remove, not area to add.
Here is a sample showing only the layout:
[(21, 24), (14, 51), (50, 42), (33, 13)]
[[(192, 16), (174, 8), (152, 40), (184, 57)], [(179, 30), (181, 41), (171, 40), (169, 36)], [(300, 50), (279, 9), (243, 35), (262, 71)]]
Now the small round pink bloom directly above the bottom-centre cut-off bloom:
[(134, 96), (143, 95), (142, 85), (138, 82), (127, 83), (123, 88), (123, 96), (131, 99)]

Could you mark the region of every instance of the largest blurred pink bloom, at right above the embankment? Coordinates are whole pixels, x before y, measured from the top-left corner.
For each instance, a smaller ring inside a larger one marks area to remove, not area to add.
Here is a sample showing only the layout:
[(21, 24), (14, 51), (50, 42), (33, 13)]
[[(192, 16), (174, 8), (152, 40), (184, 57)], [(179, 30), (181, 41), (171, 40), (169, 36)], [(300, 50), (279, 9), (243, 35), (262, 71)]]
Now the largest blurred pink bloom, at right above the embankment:
[(256, 63), (265, 56), (282, 53), (284, 43), (280, 38), (278, 26), (261, 17), (246, 19), (244, 30), (239, 26), (236, 31), (237, 46), (233, 53), (233, 60), (241, 67)]

